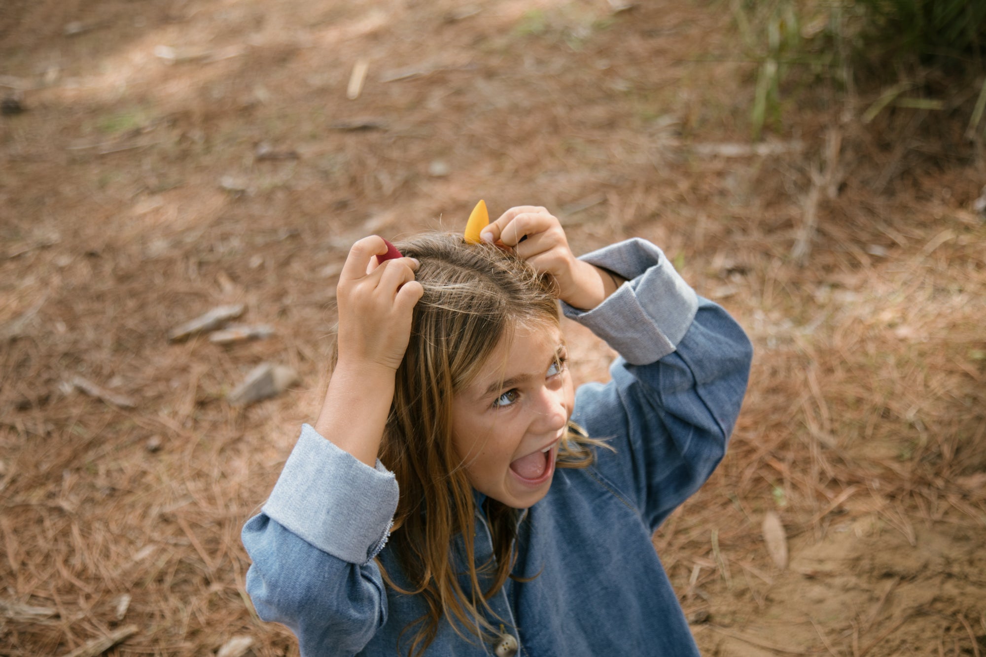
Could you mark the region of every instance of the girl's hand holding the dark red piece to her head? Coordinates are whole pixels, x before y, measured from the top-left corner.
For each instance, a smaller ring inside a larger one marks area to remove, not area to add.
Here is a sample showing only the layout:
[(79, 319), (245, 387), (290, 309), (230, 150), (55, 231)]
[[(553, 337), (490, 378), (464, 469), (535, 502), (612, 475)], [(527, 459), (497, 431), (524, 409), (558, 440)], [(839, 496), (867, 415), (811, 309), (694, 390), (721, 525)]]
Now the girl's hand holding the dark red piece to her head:
[(414, 280), (418, 261), (399, 257), (376, 264), (387, 244), (376, 235), (353, 245), (339, 273), (339, 364), (396, 371), (411, 336), (411, 313), (424, 294)]

